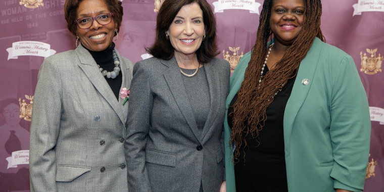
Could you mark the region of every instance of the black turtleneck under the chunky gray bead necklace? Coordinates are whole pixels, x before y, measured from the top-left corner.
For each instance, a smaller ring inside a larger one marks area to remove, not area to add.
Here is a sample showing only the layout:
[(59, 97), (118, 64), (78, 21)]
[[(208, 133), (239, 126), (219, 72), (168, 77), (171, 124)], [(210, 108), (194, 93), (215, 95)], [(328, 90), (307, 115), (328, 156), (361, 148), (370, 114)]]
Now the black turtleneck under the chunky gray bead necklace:
[[(82, 44), (81, 44), (82, 45)], [(86, 50), (88, 50), (84, 45), (82, 45)], [(90, 55), (93, 57), (94, 61), (100, 65), (103, 70), (107, 70), (108, 72), (113, 71), (113, 68), (115, 68), (115, 64), (113, 61), (113, 49), (115, 49), (115, 43), (112, 42), (112, 46), (108, 47), (106, 50), (101, 51), (101, 52), (92, 52), (88, 50)], [(120, 93), (120, 88), (121, 88), (121, 83), (123, 81), (123, 75), (121, 72), (119, 75), (112, 79), (112, 78), (107, 78), (105, 76), (105, 79), (107, 80), (109, 86), (111, 87), (113, 93), (116, 96), (116, 99), (119, 100), (119, 93)]]

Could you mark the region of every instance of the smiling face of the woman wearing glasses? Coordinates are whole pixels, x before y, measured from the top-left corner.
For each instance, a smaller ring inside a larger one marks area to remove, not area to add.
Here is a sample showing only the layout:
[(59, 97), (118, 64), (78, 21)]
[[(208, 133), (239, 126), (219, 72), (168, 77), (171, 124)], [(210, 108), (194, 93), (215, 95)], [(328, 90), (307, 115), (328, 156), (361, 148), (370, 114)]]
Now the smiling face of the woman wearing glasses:
[[(77, 19), (84, 17), (96, 17), (103, 13), (111, 13), (103, 0), (84, 0), (77, 9)], [(117, 29), (117, 24), (112, 19), (111, 23), (101, 25), (93, 20), (91, 27), (81, 29), (77, 26), (77, 36), (81, 44), (88, 50), (100, 52), (112, 46), (112, 39)]]

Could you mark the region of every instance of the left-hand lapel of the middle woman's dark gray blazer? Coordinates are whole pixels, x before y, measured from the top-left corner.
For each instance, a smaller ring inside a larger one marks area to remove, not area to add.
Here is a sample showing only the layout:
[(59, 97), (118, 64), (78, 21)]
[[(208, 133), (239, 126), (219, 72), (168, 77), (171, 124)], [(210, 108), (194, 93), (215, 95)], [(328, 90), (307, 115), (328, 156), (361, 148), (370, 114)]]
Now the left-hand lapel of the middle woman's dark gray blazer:
[(168, 61), (161, 60), (161, 63), (169, 67), (168, 73), (164, 73), (164, 78), (167, 81), (168, 87), (171, 90), (173, 98), (175, 99), (182, 115), (184, 116), (192, 132), (195, 134), (196, 138), (201, 143), (201, 132), (199, 131), (196, 124), (193, 110), (190, 107), (188, 95), (186, 94), (183, 80), (181, 79), (181, 73), (177, 65), (176, 58), (173, 56), (173, 58)]

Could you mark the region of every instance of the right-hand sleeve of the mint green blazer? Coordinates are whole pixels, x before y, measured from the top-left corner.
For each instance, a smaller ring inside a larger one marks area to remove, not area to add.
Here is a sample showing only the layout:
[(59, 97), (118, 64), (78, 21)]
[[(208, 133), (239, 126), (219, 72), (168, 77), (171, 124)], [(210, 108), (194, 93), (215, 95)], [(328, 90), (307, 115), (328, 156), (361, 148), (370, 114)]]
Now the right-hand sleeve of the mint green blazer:
[(332, 75), (330, 138), (334, 188), (362, 191), (368, 163), (371, 123), (367, 95), (350, 56)]

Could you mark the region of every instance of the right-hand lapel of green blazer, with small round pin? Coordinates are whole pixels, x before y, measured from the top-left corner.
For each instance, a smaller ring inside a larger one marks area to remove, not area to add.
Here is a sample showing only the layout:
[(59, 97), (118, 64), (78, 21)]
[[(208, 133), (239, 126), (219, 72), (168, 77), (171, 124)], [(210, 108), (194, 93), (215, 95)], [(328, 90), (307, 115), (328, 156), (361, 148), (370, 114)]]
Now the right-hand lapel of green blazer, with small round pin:
[[(319, 61), (321, 43), (322, 41), (319, 38), (316, 37), (314, 39), (307, 56), (300, 63), (290, 99), (286, 103), (283, 122), (285, 146), (290, 146), (290, 138), (294, 121), (299, 109), (307, 98), (309, 89), (311, 88), (317, 62)], [(309, 81), (307, 85), (303, 82), (305, 79)]]

